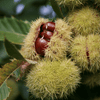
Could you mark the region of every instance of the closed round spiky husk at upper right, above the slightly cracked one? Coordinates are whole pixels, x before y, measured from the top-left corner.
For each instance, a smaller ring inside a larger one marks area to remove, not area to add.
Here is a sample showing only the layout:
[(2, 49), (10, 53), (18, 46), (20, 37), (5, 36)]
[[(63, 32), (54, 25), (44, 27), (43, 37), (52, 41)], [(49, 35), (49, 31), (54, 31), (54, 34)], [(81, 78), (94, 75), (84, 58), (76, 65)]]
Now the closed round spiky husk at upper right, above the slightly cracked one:
[(68, 22), (73, 27), (74, 35), (85, 35), (100, 33), (100, 16), (92, 8), (84, 7), (78, 11), (71, 12)]

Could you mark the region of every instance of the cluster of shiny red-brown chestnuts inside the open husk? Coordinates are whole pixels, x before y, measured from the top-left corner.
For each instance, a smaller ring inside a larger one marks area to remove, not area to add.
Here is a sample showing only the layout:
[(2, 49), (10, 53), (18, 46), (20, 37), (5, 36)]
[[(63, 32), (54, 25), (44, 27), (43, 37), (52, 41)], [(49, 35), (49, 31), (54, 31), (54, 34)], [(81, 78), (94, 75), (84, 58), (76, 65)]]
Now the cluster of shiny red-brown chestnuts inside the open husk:
[(47, 22), (42, 24), (38, 29), (38, 37), (35, 40), (35, 50), (38, 54), (44, 56), (45, 49), (48, 47), (47, 43), (50, 42), (55, 30), (54, 22)]

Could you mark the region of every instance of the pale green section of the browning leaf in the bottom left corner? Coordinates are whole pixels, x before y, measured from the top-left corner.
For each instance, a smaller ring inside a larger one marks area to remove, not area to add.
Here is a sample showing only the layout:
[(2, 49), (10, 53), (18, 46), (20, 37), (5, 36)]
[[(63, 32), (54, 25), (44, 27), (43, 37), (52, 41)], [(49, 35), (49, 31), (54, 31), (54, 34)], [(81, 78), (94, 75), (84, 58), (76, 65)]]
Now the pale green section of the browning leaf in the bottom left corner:
[(6, 82), (0, 86), (0, 100), (6, 100), (10, 94), (11, 89), (7, 87)]

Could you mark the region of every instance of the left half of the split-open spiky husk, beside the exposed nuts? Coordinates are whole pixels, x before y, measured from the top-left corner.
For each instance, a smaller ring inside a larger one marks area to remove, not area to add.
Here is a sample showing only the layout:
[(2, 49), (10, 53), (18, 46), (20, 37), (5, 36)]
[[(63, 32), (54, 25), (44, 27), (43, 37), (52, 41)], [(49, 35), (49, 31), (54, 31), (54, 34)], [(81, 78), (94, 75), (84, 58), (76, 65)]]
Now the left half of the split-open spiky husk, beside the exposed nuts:
[(39, 18), (33, 21), (31, 24), (30, 31), (24, 40), (24, 45), (22, 46), (20, 52), (21, 54), (31, 60), (39, 59), (39, 55), (35, 51), (35, 39), (38, 34), (38, 28), (43, 24), (48, 22), (48, 19)]

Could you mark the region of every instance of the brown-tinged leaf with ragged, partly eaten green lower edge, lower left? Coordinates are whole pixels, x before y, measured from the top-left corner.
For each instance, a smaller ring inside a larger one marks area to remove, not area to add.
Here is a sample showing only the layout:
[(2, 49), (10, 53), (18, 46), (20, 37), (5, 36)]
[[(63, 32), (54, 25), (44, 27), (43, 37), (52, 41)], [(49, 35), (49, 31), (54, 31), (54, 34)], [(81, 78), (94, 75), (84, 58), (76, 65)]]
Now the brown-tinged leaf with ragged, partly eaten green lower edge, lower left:
[[(2, 68), (0, 68), (0, 100), (6, 100), (10, 94), (10, 88), (7, 87), (6, 81), (7, 79), (14, 74), (16, 74), (16, 78), (18, 76), (21, 77), (23, 71), (21, 69), (25, 66), (25, 69), (28, 68), (30, 64), (26, 61), (22, 60), (13, 60), (10, 63), (5, 64)], [(18, 71), (18, 73), (17, 73)]]

